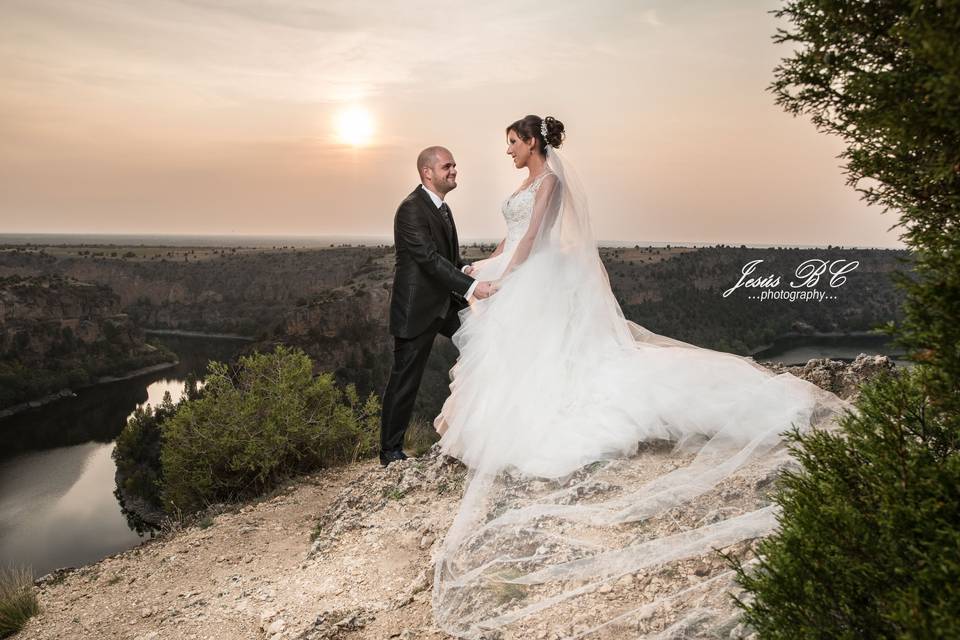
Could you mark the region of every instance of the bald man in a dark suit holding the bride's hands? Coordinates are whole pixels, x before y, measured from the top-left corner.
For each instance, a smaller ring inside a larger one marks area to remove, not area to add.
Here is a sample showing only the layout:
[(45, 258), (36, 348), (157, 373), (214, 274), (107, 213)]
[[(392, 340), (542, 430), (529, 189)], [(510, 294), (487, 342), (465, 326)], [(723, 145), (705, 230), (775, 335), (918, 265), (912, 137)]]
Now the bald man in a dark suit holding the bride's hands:
[(404, 460), (403, 436), (420, 388), (427, 357), (438, 333), (451, 337), (457, 312), (474, 295), (486, 298), (490, 284), (474, 280), (460, 257), (457, 227), (446, 195), (457, 187), (457, 163), (443, 147), (417, 157), (420, 183), (404, 198), (393, 219), (396, 272), (390, 296), (393, 369), (383, 393), (380, 464)]

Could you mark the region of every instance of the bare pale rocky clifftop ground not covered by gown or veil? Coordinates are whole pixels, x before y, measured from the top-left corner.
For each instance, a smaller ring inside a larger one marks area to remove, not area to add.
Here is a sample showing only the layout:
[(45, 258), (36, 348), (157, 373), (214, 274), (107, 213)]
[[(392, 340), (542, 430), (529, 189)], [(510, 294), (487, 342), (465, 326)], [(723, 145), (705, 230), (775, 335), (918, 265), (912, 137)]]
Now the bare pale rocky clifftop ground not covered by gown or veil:
[[(861, 356), (789, 370), (851, 399), (891, 367)], [(464, 472), (434, 450), (386, 469), (373, 460), (303, 476), (255, 503), (45, 576), (42, 612), (14, 637), (447, 638), (432, 621), (431, 551), (452, 522)], [(561, 637), (562, 622), (533, 637)]]

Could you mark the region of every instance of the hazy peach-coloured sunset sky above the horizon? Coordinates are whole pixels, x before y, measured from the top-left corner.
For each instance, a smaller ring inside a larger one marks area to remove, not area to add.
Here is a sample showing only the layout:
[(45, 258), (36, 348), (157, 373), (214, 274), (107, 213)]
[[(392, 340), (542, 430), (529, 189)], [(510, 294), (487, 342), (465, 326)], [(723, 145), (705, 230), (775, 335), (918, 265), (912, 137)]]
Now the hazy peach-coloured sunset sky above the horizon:
[[(3, 0), (0, 233), (389, 235), (443, 144), (461, 237), (501, 237), (503, 129), (535, 113), (600, 239), (903, 246), (765, 90), (775, 6)], [(369, 145), (338, 137), (352, 107)]]

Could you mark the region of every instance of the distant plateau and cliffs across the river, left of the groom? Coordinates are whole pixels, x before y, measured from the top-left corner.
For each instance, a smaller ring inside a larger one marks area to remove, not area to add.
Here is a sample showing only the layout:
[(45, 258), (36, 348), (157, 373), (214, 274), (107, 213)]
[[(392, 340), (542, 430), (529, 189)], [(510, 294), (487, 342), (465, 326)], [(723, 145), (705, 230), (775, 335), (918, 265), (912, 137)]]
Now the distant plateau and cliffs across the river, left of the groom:
[(0, 250), (0, 276), (58, 274), (105, 284), (140, 326), (252, 336), (289, 309), (349, 283), (370, 260), (388, 252), (376, 247)]

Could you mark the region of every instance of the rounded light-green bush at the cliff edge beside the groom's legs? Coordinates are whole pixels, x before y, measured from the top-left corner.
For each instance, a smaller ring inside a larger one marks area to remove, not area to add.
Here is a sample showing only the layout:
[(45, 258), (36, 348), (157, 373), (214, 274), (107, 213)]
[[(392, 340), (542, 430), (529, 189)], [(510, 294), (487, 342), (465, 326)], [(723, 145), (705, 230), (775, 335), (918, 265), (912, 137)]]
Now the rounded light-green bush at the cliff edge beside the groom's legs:
[(293, 474), (373, 455), (377, 397), (361, 402), (352, 385), (312, 370), (303, 351), (283, 345), (241, 357), (235, 371), (210, 362), (202, 397), (162, 429), (165, 510), (259, 495)]

